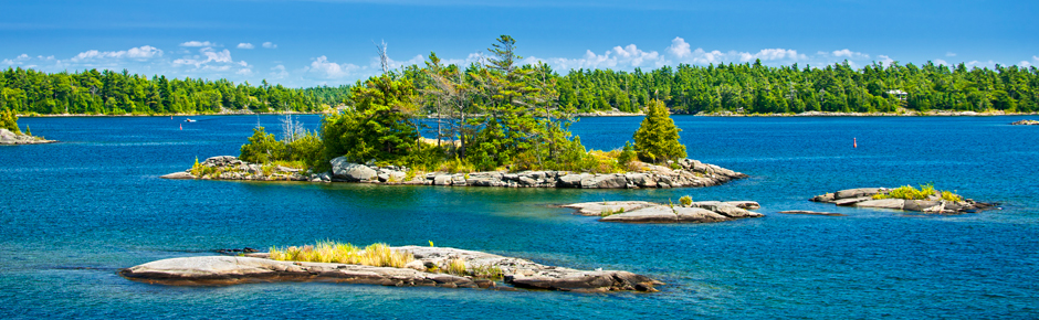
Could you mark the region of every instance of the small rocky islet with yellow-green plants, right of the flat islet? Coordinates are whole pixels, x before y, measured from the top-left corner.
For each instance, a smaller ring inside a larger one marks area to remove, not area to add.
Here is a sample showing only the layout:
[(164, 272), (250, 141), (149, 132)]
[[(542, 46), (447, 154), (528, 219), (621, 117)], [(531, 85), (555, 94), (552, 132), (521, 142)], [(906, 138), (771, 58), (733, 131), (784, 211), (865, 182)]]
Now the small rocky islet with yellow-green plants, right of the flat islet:
[(923, 185), (920, 190), (910, 185), (895, 189), (849, 189), (817, 195), (812, 198), (811, 201), (832, 203), (841, 206), (893, 209), (943, 214), (973, 213), (995, 207), (993, 203), (964, 199), (948, 191), (934, 190), (932, 185)]

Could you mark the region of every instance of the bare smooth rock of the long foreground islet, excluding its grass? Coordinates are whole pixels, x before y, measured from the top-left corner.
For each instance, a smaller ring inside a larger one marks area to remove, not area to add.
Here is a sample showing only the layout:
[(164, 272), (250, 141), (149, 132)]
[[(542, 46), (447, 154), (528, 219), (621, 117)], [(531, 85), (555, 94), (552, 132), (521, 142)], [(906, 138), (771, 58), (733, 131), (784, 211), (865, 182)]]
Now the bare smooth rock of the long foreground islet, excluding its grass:
[[(201, 256), (162, 259), (126, 268), (123, 277), (141, 282), (172, 286), (224, 286), (276, 281), (324, 281), (396, 287), (542, 289), (575, 292), (655, 292), (663, 282), (628, 271), (577, 270), (545, 266), (531, 260), (445, 247), (403, 246), (416, 260), (405, 268), (348, 264), (279, 262), (266, 253), (246, 256)], [(427, 271), (445, 269), (448, 262), (461, 258), (466, 267), (501, 268), (505, 285), (491, 279)]]

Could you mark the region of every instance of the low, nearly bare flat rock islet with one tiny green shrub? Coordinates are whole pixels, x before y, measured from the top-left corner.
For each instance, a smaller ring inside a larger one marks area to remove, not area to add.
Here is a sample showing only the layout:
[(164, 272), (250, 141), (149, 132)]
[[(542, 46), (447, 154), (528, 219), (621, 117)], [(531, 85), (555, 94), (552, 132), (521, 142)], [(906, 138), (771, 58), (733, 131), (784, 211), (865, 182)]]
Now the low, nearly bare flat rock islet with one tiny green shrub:
[(711, 223), (764, 216), (751, 210), (762, 206), (754, 201), (700, 201), (690, 205), (646, 201), (584, 202), (562, 205), (578, 215), (601, 216), (601, 222), (625, 223)]

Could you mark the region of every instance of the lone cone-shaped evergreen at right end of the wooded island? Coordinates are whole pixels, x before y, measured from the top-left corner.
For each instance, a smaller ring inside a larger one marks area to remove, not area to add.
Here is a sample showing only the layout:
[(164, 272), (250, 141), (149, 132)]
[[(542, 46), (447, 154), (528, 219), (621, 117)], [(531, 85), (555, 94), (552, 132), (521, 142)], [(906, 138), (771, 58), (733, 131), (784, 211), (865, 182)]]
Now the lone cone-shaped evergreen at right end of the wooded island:
[(634, 131), (634, 149), (639, 159), (660, 163), (685, 158), (685, 146), (679, 142), (679, 129), (659, 100), (650, 102), (642, 125)]

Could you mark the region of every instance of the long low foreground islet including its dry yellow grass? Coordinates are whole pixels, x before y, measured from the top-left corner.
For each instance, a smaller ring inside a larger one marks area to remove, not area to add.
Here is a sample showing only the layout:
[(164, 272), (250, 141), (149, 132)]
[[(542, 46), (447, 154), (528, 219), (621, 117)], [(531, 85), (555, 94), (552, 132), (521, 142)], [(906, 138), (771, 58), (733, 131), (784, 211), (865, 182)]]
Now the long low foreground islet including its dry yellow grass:
[(336, 242), (272, 248), (241, 256), (197, 256), (151, 262), (119, 271), (135, 281), (225, 286), (323, 281), (395, 287), (539, 289), (574, 292), (655, 292), (658, 280), (628, 271), (577, 270), (449, 247)]

